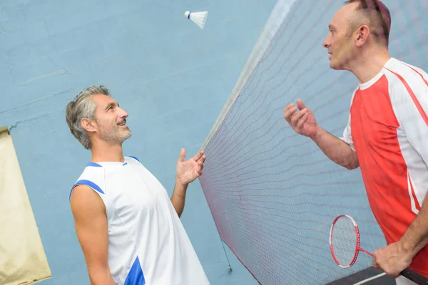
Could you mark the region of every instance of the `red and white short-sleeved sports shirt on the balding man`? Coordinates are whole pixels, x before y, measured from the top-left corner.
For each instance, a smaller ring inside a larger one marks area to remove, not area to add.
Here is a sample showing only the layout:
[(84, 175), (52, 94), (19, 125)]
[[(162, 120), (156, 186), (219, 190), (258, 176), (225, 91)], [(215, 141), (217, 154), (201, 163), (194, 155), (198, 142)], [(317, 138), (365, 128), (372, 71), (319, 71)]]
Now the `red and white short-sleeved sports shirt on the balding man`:
[[(374, 217), (397, 242), (428, 190), (428, 74), (390, 58), (352, 95), (342, 140), (357, 152)], [(428, 247), (410, 266), (428, 276)]]

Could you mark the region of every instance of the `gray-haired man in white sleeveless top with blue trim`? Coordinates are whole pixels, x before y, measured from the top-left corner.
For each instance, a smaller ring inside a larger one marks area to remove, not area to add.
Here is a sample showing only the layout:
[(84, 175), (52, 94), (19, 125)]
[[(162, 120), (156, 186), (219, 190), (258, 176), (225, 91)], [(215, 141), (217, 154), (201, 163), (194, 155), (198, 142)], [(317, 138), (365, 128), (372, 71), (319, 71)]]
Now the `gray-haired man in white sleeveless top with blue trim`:
[(86, 88), (66, 108), (71, 133), (92, 153), (70, 193), (91, 284), (209, 284), (180, 222), (205, 155), (185, 161), (181, 150), (170, 198), (138, 158), (123, 156), (127, 118), (104, 86)]

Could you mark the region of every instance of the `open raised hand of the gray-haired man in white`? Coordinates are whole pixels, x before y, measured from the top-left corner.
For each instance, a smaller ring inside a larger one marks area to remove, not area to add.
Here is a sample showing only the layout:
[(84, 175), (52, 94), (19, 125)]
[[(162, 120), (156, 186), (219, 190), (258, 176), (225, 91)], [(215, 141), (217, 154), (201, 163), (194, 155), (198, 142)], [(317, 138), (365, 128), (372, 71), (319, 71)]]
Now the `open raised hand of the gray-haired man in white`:
[(200, 151), (189, 160), (184, 161), (184, 159), (185, 149), (182, 148), (175, 172), (177, 172), (178, 181), (180, 181), (182, 185), (188, 185), (202, 175), (205, 155), (203, 155), (203, 151)]

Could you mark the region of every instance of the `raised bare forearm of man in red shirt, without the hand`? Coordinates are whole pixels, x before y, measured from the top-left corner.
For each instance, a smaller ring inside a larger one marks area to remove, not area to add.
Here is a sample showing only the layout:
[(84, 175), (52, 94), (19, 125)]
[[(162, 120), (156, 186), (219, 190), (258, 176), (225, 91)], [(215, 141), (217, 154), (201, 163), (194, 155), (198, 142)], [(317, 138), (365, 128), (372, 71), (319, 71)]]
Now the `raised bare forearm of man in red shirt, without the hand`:
[(322, 152), (337, 165), (343, 166), (348, 170), (353, 170), (360, 166), (357, 153), (352, 150), (350, 145), (323, 130), (319, 125), (317, 125), (317, 133), (311, 138)]

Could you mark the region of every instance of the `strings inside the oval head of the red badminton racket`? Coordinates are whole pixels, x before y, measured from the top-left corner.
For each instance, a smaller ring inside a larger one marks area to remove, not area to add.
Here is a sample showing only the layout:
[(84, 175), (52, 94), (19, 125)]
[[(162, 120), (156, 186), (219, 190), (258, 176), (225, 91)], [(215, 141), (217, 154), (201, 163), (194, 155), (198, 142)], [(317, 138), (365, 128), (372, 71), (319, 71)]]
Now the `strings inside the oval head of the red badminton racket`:
[(349, 266), (357, 252), (357, 232), (352, 220), (348, 217), (337, 219), (332, 229), (332, 251), (337, 262)]

